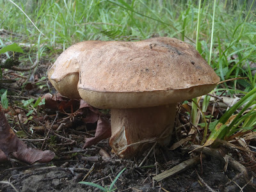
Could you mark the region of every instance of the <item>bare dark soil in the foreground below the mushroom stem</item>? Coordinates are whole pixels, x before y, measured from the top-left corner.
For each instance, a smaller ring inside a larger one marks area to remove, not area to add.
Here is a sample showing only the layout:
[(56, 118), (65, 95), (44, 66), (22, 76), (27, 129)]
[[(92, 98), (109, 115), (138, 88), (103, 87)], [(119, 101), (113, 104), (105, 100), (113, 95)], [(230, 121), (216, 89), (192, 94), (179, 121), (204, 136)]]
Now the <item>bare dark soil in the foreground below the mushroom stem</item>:
[[(98, 146), (105, 146), (106, 151), (110, 152), (106, 143), (99, 143)], [(138, 168), (138, 164), (147, 155), (148, 151), (134, 159), (124, 160), (112, 156), (108, 161), (103, 161), (97, 153), (98, 151), (98, 148), (88, 151), (88, 155), (99, 157), (95, 162), (54, 159), (49, 164), (35, 164), (32, 166), (12, 167), (10, 163), (1, 164), (0, 180), (9, 180), (15, 188), (24, 192), (100, 191), (97, 188), (78, 182), (84, 180), (101, 186), (109, 186), (116, 175), (126, 167), (125, 172), (120, 175), (115, 184), (116, 191), (209, 191), (209, 189), (240, 191), (238, 186), (243, 187), (246, 184), (243, 179), (234, 179), (237, 172), (233, 168), (228, 168), (227, 172), (223, 172), (225, 164), (211, 156), (205, 157), (202, 164), (196, 164), (196, 166), (168, 177), (161, 182), (154, 182), (152, 177), (156, 173), (161, 173), (189, 159), (188, 153), (179, 149), (170, 151), (157, 146), (154, 152), (148, 156), (145, 164)], [(13, 162), (13, 164), (15, 163)], [(209, 188), (200, 181), (196, 172)], [(234, 180), (231, 181), (232, 179)], [(15, 191), (8, 184), (0, 184), (0, 186), (0, 191)], [(246, 186), (243, 191), (255, 191), (255, 189)]]

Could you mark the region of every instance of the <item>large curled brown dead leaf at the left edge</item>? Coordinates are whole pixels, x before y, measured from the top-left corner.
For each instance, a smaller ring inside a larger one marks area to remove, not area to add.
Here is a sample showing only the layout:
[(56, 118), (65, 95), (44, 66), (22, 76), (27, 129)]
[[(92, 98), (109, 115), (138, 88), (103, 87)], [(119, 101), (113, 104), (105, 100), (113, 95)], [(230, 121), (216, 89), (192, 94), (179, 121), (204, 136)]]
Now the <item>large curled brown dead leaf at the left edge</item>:
[(19, 140), (8, 124), (0, 104), (0, 159), (4, 160), (7, 159), (6, 157), (15, 157), (20, 161), (32, 164), (36, 161), (47, 163), (54, 156), (54, 152), (50, 150), (42, 151), (36, 148), (28, 148), (23, 141)]

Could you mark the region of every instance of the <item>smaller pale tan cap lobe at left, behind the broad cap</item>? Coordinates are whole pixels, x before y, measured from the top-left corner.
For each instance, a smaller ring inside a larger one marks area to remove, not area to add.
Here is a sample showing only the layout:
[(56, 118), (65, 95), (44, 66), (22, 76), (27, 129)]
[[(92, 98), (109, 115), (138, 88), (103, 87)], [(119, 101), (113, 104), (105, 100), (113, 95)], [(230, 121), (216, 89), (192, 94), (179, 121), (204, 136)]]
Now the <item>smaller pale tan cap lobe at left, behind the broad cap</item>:
[(70, 99), (81, 99), (77, 84), (79, 81), (79, 67), (81, 55), (88, 55), (92, 47), (97, 47), (100, 41), (87, 41), (68, 47), (60, 54), (52, 67), (48, 70), (48, 78), (61, 95)]

